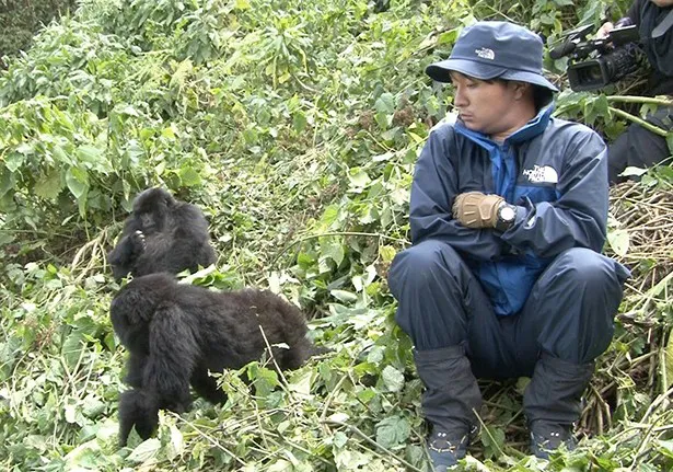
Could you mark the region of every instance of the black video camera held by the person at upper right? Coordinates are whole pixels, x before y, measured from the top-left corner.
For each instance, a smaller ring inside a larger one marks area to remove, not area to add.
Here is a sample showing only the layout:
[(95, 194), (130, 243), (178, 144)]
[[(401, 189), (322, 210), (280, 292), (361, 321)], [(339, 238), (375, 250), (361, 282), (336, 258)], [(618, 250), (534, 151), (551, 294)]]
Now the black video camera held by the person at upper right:
[(569, 32), (562, 44), (549, 51), (552, 59), (570, 56), (568, 80), (576, 92), (601, 89), (638, 69), (638, 27), (624, 26), (607, 37), (587, 39), (592, 25)]

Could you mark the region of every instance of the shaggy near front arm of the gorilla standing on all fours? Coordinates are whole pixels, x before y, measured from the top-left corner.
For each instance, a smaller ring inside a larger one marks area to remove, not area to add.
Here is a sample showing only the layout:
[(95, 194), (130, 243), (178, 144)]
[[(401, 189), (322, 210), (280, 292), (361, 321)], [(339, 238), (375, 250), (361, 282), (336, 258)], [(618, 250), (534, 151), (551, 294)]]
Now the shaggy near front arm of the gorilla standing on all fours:
[(175, 304), (160, 306), (154, 312), (142, 376), (142, 388), (155, 392), (159, 407), (176, 413), (192, 403), (189, 379), (201, 354), (195, 336), (199, 325), (190, 314)]

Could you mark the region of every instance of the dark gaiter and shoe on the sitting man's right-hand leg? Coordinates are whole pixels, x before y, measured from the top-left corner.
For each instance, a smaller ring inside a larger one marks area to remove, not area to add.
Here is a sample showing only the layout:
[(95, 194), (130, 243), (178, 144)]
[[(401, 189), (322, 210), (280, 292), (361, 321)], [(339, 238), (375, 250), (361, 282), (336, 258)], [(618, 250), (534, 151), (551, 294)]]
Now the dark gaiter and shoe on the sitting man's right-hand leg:
[(533, 454), (548, 459), (549, 452), (562, 445), (575, 449), (572, 431), (593, 370), (594, 362), (576, 365), (542, 355), (523, 395)]

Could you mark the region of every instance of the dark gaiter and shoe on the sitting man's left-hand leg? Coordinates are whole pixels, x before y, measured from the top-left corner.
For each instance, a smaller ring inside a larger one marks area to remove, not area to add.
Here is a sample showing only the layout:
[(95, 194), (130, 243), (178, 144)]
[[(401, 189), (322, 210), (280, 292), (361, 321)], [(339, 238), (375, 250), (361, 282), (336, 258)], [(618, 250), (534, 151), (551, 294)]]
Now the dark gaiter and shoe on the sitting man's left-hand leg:
[(465, 457), (477, 424), (473, 408), (481, 406), (481, 393), (463, 346), (415, 350), (418, 377), (426, 385), (422, 407), (432, 425), (428, 452), (438, 472)]

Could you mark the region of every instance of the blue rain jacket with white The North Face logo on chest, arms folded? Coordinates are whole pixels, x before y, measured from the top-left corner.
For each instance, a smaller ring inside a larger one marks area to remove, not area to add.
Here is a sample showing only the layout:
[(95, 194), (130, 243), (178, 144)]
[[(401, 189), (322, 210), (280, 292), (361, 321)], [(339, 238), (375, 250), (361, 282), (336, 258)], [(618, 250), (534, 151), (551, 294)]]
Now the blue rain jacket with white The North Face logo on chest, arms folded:
[[(461, 122), (437, 127), (414, 173), (411, 240), (450, 244), (464, 257), (499, 316), (517, 313), (552, 260), (570, 247), (601, 252), (607, 221), (607, 160), (587, 126), (553, 118), (553, 104), (496, 142)], [(517, 205), (504, 232), (471, 229), (451, 206), (464, 192)]]

